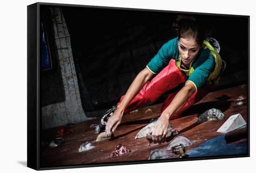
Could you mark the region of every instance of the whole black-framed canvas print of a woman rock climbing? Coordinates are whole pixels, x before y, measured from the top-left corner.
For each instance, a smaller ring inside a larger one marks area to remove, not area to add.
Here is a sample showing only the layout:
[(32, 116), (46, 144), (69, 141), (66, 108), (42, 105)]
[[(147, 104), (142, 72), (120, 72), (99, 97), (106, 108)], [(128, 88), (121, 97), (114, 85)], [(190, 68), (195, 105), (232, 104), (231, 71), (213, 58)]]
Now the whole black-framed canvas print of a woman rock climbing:
[(249, 156), (249, 16), (35, 3), (27, 81), (33, 169)]

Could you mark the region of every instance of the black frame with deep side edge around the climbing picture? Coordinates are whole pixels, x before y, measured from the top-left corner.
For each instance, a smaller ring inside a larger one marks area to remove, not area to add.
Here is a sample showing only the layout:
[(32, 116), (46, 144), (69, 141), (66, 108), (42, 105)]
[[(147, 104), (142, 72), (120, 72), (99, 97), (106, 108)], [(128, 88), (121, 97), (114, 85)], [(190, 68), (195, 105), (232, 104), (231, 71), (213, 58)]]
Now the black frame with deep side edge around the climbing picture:
[[(173, 160), (134, 160), (126, 162), (108, 162), (97, 164), (81, 164), (81, 165), (65, 165), (65, 166), (52, 166), (41, 167), (40, 165), (40, 138), (41, 138), (41, 96), (40, 96), (40, 79), (42, 73), (55, 73), (57, 69), (57, 62), (54, 51), (50, 51), (53, 59), (53, 67), (48, 72), (40, 70), (40, 23), (42, 6), (62, 6), (62, 7), (89, 7), (96, 9), (119, 9), (119, 10), (132, 10), (132, 11), (147, 11), (147, 12), (165, 12), (165, 13), (178, 13), (178, 14), (200, 14), (207, 16), (226, 16), (234, 18), (247, 18), (248, 19), (248, 76), (247, 76), (247, 98), (248, 98), (248, 129), (250, 126), (249, 119), (249, 16), (229, 15), (229, 14), (212, 14), (212, 13), (191, 13), (191, 12), (176, 12), (176, 11), (163, 11), (163, 10), (148, 10), (148, 9), (132, 9), (132, 8), (118, 8), (106, 6), (84, 6), (84, 5), (70, 5), (70, 4), (54, 4), (54, 3), (35, 3), (27, 6), (27, 167), (35, 170), (49, 170), (49, 169), (64, 169), (64, 168), (80, 168), (80, 167), (101, 167), (101, 166), (116, 166), (116, 165), (132, 165), (132, 164), (145, 164), (145, 163), (159, 163), (159, 162), (173, 162), (173, 161), (188, 161), (188, 160), (208, 160), (208, 159), (223, 159), (223, 158), (239, 158), (249, 157), (250, 142), (248, 139), (248, 153), (233, 156), (215, 156), (215, 157), (199, 157), (188, 159), (173, 159)], [(49, 26), (48, 23), (46, 26)], [(47, 27), (47, 33), (51, 33)], [(52, 40), (52, 36), (48, 36)], [(52, 41), (49, 41), (49, 46), (54, 47)], [(249, 136), (249, 132), (248, 132)]]

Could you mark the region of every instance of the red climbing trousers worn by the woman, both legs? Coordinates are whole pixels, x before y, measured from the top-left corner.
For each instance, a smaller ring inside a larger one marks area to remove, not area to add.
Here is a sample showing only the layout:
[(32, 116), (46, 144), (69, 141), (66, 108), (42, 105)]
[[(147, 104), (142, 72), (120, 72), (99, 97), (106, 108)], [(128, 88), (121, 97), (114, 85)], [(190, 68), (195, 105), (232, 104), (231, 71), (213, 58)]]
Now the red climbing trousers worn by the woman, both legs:
[[(129, 103), (126, 112), (133, 111), (135, 109), (141, 108), (148, 103), (155, 102), (162, 94), (178, 86), (181, 83), (187, 81), (187, 76), (182, 73), (175, 65), (175, 60), (172, 59), (168, 66), (166, 66), (159, 74), (157, 74), (150, 82), (147, 82), (141, 91), (135, 96), (135, 98)], [(188, 102), (175, 113), (170, 119), (176, 119), (182, 114), (186, 109), (188, 109), (193, 104), (199, 102), (204, 96), (206, 96), (210, 90), (214, 89), (215, 85), (204, 84), (203, 87), (198, 89), (192, 96), (190, 96)], [(161, 113), (168, 107), (172, 102), (177, 92), (171, 93), (164, 103), (162, 104)], [(121, 96), (122, 101), (124, 96)], [(120, 102), (118, 104), (120, 104)], [(117, 105), (118, 105), (117, 104)]]

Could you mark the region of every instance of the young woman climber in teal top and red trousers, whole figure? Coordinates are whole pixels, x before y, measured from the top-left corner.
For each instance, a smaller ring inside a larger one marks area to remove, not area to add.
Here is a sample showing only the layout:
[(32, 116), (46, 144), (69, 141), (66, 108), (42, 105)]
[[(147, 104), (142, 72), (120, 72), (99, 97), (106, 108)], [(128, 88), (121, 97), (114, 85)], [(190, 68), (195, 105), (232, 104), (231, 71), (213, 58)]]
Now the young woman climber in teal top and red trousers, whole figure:
[(124, 113), (153, 103), (182, 83), (182, 89), (171, 93), (162, 104), (152, 129), (153, 141), (161, 141), (170, 119), (178, 118), (215, 88), (222, 71), (219, 53), (204, 40), (204, 31), (193, 16), (179, 16), (177, 26), (177, 37), (165, 43), (141, 70), (117, 106), (101, 116), (100, 128), (105, 128), (108, 136), (115, 132)]

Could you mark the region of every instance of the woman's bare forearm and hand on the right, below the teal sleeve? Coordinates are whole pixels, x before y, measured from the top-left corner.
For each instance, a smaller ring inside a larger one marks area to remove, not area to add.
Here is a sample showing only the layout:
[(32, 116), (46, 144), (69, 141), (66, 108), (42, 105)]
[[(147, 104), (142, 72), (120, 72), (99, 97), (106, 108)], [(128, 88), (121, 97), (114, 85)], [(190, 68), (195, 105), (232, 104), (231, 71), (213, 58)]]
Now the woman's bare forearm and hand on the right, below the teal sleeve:
[(176, 94), (173, 101), (162, 112), (160, 118), (155, 123), (152, 129), (153, 141), (161, 141), (166, 135), (169, 118), (172, 117), (177, 111), (179, 111), (189, 100), (189, 97), (195, 93), (195, 85), (191, 82), (187, 82), (185, 86)]

